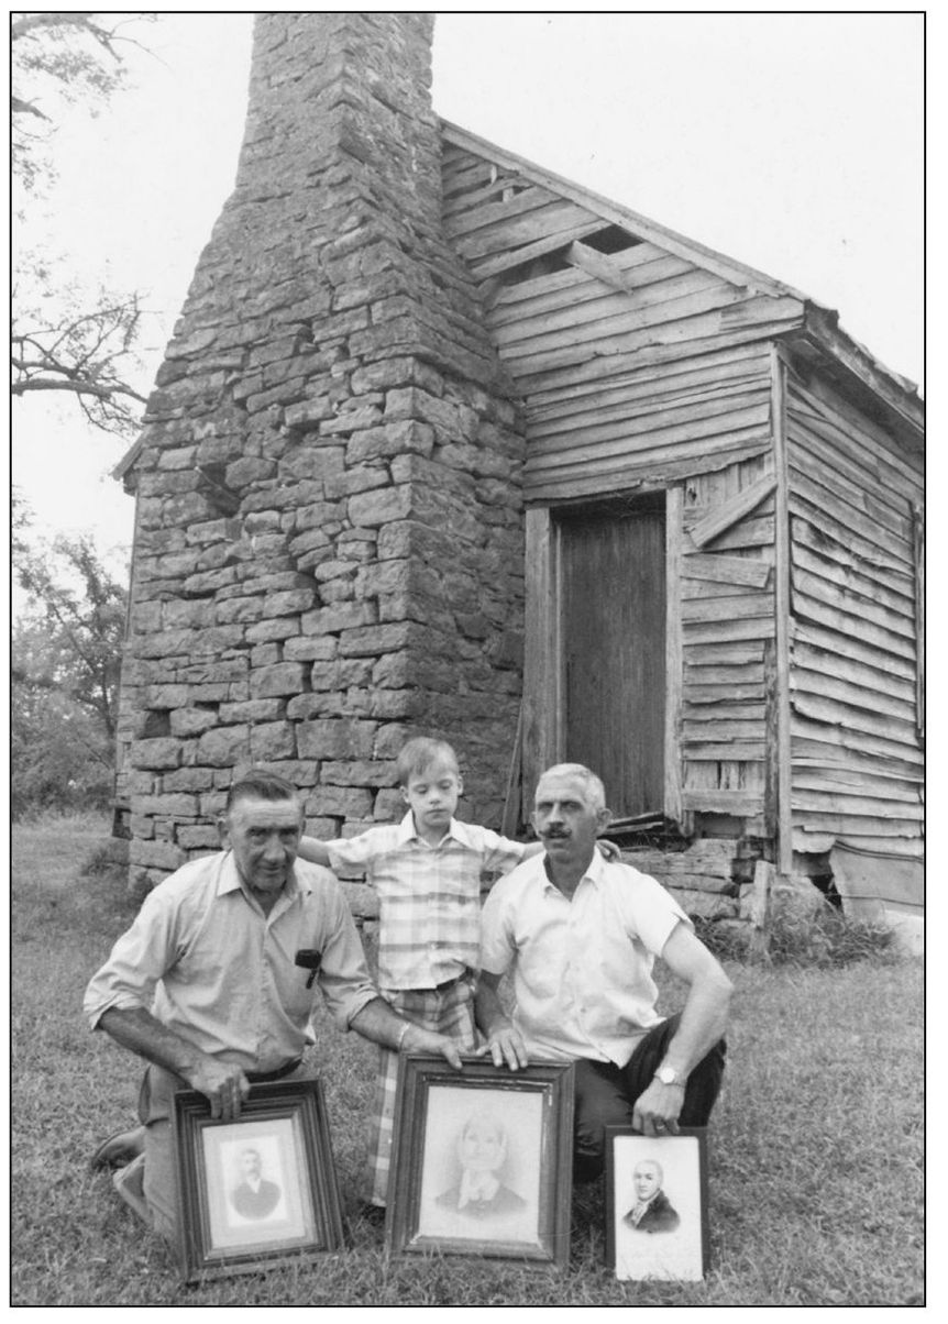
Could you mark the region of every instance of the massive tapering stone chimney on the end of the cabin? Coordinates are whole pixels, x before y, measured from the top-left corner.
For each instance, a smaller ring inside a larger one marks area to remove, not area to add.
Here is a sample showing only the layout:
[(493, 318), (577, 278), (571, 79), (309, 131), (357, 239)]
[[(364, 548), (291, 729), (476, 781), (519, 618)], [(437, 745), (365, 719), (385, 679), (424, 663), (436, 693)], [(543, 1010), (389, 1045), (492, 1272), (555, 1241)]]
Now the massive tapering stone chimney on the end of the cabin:
[(441, 229), (432, 29), (257, 19), (236, 188), (126, 466), (136, 888), (216, 846), (250, 764), (303, 790), (316, 835), (393, 818), (416, 733), (455, 744), (467, 817), (499, 826), (523, 442)]

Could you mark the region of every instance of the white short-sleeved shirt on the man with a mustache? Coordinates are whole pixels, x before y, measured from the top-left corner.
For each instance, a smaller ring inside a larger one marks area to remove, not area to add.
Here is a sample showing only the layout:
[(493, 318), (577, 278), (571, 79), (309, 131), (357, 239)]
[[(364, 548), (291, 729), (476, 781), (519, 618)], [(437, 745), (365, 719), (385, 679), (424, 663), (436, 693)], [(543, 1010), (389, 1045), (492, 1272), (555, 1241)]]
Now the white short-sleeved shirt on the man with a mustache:
[(495, 883), (481, 918), (481, 967), (514, 967), (514, 1023), (531, 1058), (625, 1066), (662, 1018), (655, 956), (690, 920), (654, 878), (593, 851), (572, 900), (534, 855)]

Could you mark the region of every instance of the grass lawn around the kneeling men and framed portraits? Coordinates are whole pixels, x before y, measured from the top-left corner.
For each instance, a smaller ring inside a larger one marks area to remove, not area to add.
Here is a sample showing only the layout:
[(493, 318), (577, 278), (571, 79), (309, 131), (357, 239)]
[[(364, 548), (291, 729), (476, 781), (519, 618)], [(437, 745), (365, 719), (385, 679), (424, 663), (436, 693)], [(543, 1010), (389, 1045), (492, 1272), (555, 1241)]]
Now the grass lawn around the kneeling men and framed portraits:
[[(601, 1185), (573, 1201), (563, 1275), (473, 1258), (387, 1262), (357, 1217), (375, 1049), (316, 1026), (350, 1249), (183, 1288), (163, 1243), (87, 1169), (134, 1121), (139, 1063), (81, 1016), (134, 910), (82, 876), (102, 820), (13, 831), (11, 1300), (15, 1305), (907, 1305), (923, 1303), (922, 965), (730, 964), (724, 1091), (710, 1128), (711, 1271), (618, 1283)], [(674, 1009), (673, 1001), (669, 1010)]]

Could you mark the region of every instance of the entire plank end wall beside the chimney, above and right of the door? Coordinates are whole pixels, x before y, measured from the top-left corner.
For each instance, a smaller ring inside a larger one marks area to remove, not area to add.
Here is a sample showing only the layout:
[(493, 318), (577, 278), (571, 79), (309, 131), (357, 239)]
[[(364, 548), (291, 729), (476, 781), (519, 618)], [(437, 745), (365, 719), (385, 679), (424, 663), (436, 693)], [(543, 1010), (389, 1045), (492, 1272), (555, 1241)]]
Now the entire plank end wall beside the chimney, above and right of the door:
[(453, 144), (444, 187), (446, 230), (482, 282), (523, 396), (530, 506), (637, 485), (675, 496), (674, 808), (686, 820), (743, 818), (764, 835), (775, 523), (767, 336), (796, 324), (802, 307), (624, 237), (575, 197)]

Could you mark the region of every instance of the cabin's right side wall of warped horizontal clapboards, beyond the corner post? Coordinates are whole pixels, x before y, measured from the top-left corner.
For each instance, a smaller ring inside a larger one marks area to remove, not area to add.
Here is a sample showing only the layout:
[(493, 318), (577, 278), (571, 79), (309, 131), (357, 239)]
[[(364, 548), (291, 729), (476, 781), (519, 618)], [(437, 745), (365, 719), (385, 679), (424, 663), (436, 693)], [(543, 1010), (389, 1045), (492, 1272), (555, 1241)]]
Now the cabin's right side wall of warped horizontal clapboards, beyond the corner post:
[[(789, 373), (794, 849), (920, 857), (919, 451)], [(824, 838), (824, 839), (821, 839)]]

